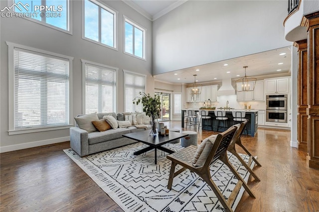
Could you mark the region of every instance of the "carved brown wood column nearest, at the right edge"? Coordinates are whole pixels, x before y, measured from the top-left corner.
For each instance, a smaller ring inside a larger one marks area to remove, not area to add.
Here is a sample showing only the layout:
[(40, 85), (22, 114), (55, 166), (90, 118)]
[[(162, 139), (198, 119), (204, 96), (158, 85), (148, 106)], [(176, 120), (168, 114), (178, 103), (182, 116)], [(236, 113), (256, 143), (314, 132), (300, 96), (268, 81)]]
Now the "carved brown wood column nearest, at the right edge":
[(304, 16), (302, 24), (308, 27), (307, 164), (319, 169), (319, 12)]

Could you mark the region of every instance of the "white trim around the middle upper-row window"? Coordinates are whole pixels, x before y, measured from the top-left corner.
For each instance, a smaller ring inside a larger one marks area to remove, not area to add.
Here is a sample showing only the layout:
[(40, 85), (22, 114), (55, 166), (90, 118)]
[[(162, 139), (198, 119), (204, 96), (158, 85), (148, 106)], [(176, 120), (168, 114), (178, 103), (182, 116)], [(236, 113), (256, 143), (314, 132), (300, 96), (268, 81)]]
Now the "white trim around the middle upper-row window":
[[(118, 51), (118, 39), (117, 39), (118, 25), (117, 25), (117, 23), (118, 23), (119, 12), (117, 10), (113, 9), (112, 7), (110, 7), (109, 5), (107, 5), (105, 3), (101, 3), (97, 0), (89, 0), (89, 1), (91, 1), (92, 3), (95, 3), (96, 5), (98, 5), (100, 7), (103, 7), (105, 10), (107, 10), (108, 12), (113, 13), (115, 15), (114, 22), (113, 22), (113, 24), (114, 24), (114, 32), (113, 32), (113, 34), (114, 34), (113, 35), (114, 36), (114, 41), (113, 41), (114, 47), (85, 37), (85, 2), (84, 2), (84, 0), (82, 0), (82, 39)], [(99, 18), (100, 17), (101, 17), (101, 14), (99, 15)], [(100, 33), (101, 33), (101, 25), (99, 24), (99, 36), (100, 36)]]

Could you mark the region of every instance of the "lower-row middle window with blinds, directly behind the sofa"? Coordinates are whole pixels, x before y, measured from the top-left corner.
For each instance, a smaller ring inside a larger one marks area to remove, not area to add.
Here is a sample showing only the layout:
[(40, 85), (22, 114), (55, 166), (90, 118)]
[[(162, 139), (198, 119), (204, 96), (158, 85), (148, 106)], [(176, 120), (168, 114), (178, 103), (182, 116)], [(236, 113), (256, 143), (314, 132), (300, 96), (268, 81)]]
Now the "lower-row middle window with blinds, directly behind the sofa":
[(85, 79), (85, 113), (116, 111), (117, 68), (85, 60), (82, 60), (82, 63)]

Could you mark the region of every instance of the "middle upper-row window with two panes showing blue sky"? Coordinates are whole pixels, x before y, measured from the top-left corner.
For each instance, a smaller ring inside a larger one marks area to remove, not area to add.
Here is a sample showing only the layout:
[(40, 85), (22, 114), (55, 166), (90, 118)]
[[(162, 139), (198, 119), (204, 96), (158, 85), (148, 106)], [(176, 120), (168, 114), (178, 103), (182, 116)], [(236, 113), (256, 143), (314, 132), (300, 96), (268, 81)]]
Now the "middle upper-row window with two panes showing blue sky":
[(96, 0), (84, 0), (83, 38), (116, 48), (116, 11)]

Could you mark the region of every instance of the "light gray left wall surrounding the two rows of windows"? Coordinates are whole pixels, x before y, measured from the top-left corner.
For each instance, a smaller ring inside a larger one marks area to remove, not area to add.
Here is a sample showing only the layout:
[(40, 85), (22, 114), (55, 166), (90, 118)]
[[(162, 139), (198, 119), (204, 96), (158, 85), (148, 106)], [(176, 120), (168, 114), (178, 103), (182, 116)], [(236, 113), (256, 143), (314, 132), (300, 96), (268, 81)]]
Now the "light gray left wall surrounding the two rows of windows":
[[(0, 8), (7, 6), (0, 1)], [(118, 51), (82, 39), (82, 2), (73, 1), (73, 35), (23, 18), (0, 18), (0, 151), (10, 151), (68, 140), (69, 129), (8, 135), (8, 49), (5, 41), (74, 57), (73, 111), (82, 113), (81, 59), (119, 68), (117, 111), (123, 111), (123, 69), (147, 75), (147, 92), (154, 92), (152, 77), (152, 22), (123, 1), (105, 3), (118, 13)], [(147, 61), (123, 53), (123, 15), (147, 29)]]

